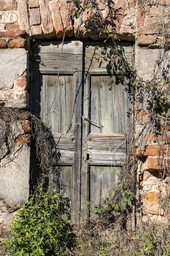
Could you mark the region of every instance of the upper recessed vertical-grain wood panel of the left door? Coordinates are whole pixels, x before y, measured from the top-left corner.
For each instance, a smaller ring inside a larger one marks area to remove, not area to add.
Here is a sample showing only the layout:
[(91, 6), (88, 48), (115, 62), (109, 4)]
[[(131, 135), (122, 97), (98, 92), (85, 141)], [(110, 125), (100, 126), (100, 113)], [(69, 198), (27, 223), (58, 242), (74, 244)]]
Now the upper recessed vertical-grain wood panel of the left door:
[(59, 76), (59, 83), (57, 83), (57, 80), (57, 76), (42, 76), (40, 92), (41, 118), (43, 122), (51, 127), (54, 134), (72, 134), (73, 77)]

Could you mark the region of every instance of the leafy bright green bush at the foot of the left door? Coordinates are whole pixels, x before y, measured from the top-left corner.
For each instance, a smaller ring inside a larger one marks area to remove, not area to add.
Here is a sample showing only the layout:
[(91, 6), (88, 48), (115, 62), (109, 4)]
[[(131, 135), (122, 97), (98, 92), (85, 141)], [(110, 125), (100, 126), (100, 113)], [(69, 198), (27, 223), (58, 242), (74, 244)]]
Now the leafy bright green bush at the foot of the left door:
[(3, 241), (8, 256), (66, 256), (71, 245), (69, 221), (62, 220), (60, 195), (44, 192), (42, 184), (37, 195), (23, 204), (10, 226), (10, 236)]

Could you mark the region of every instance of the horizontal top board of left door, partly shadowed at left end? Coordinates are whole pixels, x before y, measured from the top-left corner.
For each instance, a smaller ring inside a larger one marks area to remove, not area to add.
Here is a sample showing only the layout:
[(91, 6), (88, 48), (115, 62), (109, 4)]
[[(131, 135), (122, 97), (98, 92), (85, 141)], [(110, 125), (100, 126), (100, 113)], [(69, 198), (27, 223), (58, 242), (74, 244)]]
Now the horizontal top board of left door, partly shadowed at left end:
[[(62, 57), (61, 57), (62, 50)], [(34, 61), (31, 70), (40, 73), (73, 74), (82, 71), (82, 42), (68, 41), (62, 48), (62, 42), (41, 42), (32, 51)], [(61, 62), (60, 62), (61, 58)]]

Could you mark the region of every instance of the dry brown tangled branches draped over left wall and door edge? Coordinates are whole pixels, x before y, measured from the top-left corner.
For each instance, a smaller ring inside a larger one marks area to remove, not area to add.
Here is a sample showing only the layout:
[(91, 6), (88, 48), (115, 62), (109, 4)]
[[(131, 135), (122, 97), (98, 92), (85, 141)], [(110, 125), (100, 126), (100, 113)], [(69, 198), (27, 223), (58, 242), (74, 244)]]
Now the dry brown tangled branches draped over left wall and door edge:
[[(58, 172), (59, 152), (50, 129), (40, 117), (28, 111), (0, 108), (0, 158), (13, 160), (24, 145), (32, 147), (42, 170), (42, 175)], [(59, 175), (57, 173), (56, 175)]]

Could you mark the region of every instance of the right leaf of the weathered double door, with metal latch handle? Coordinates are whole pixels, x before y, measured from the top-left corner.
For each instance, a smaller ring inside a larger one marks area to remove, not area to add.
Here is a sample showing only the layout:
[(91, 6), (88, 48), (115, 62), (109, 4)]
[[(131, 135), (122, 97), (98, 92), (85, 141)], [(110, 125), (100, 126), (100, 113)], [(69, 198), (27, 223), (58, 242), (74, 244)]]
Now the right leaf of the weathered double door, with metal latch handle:
[[(128, 72), (120, 76), (119, 59), (111, 76), (109, 44), (85, 43), (85, 78), (82, 118), (81, 202), (94, 207), (109, 197), (117, 184), (120, 166), (127, 155), (130, 90)], [(131, 45), (120, 46), (130, 62)], [(87, 205), (81, 208), (87, 218)]]

